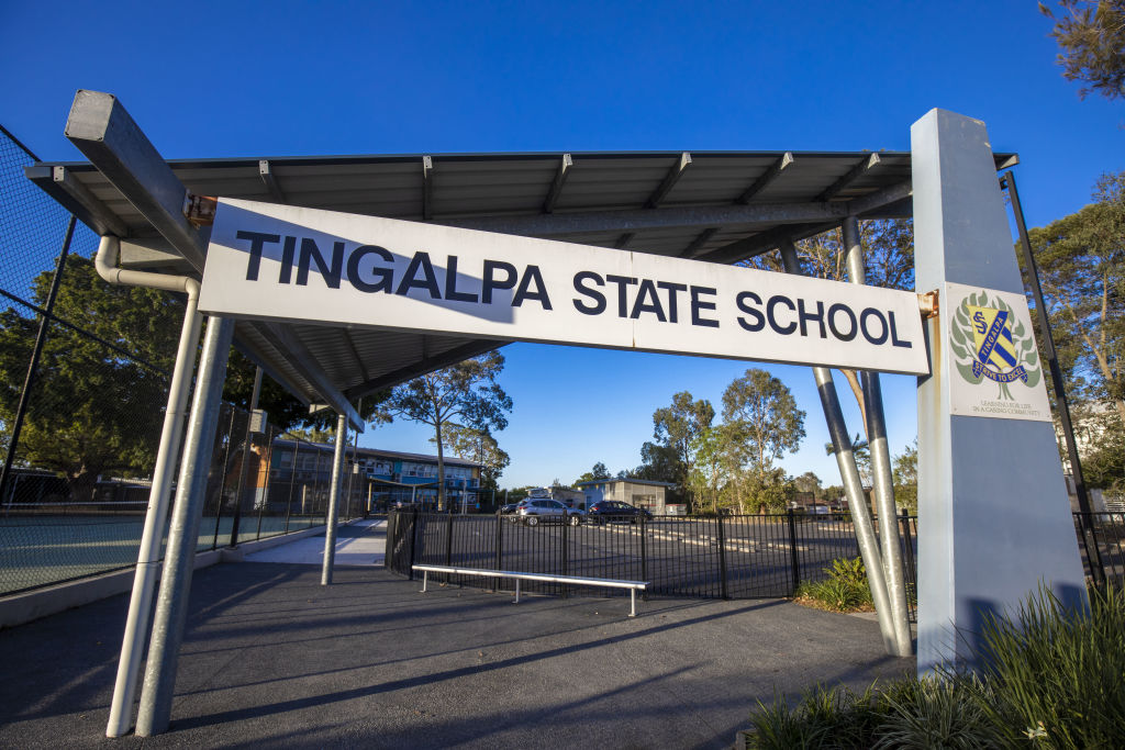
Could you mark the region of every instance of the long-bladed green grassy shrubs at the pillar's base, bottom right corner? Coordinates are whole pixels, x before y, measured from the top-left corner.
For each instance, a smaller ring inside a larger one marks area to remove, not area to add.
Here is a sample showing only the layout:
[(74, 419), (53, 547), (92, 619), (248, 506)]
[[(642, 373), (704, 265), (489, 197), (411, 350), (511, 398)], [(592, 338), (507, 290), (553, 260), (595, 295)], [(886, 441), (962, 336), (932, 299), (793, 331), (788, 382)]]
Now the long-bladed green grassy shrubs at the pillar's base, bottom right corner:
[(1091, 590), (1089, 602), (1066, 609), (1044, 588), (1014, 618), (991, 618), (975, 675), (945, 670), (861, 695), (818, 685), (794, 708), (775, 695), (750, 716), (750, 746), (1125, 747), (1125, 591)]

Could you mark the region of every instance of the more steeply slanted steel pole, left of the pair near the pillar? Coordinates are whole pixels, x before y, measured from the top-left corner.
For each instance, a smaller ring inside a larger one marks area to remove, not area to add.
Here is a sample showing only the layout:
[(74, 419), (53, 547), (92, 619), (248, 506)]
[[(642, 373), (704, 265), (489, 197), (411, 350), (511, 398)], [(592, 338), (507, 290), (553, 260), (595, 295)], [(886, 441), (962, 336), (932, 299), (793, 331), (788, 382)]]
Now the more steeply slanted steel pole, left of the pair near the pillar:
[[(793, 246), (793, 243), (783, 242), (780, 250), (785, 271), (801, 273), (801, 263), (796, 257), (796, 247)], [(879, 630), (883, 635), (883, 647), (888, 653), (898, 656), (900, 649), (894, 636), (894, 624), (891, 622), (886, 582), (880, 575), (883, 570), (883, 555), (879, 551), (879, 541), (875, 539), (875, 530), (871, 523), (871, 510), (867, 507), (867, 498), (863, 494), (863, 480), (860, 478), (860, 469), (855, 463), (852, 437), (848, 435), (847, 424), (844, 422), (844, 412), (840, 409), (836, 383), (832, 381), (832, 371), (828, 368), (812, 368), (812, 374), (817, 381), (817, 390), (820, 392), (820, 406), (825, 412), (825, 422), (828, 423), (828, 432), (832, 437), (836, 464), (839, 467), (840, 479), (844, 482), (844, 494), (847, 496), (852, 524), (855, 526), (856, 541), (860, 543), (860, 554), (868, 571), (867, 581), (871, 584), (871, 596), (875, 603), (875, 614), (879, 616)]]

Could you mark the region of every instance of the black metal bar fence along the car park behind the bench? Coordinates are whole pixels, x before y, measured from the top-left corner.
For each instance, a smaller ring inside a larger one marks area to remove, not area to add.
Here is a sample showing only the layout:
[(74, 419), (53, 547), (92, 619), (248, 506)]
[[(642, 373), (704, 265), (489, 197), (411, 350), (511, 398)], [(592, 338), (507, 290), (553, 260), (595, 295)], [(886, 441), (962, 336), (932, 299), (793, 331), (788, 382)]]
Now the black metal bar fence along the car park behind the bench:
[[(903, 568), (914, 600), (917, 519), (899, 518)], [(386, 566), (412, 576), (414, 564), (650, 581), (648, 594), (696, 598), (792, 596), (822, 580), (837, 558), (860, 548), (846, 516), (780, 515), (657, 517), (638, 523), (526, 526), (514, 516), (392, 512)], [(496, 588), (500, 581), (450, 577)], [(524, 581), (528, 590), (582, 594), (583, 587)], [(605, 590), (591, 589), (597, 596)], [(911, 606), (911, 613), (914, 607)]]

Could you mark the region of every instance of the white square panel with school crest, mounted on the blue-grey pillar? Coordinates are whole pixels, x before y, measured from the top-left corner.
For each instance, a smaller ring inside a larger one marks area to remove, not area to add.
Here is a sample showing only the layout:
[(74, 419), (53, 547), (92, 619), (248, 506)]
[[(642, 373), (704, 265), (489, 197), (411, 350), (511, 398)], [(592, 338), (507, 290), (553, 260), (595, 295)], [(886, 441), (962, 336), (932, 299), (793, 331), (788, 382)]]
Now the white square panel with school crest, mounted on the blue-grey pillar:
[(1024, 295), (946, 283), (942, 317), (954, 365), (951, 414), (1051, 422)]

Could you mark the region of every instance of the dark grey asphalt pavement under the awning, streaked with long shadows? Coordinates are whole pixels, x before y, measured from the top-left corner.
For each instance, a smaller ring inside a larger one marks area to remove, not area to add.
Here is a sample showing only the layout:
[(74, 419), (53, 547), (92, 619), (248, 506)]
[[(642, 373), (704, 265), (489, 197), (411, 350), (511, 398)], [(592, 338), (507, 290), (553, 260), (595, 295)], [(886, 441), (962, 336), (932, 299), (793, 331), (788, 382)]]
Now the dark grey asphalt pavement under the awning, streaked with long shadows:
[[(341, 527), (338, 564), (380, 537)], [(299, 562), (198, 571), (172, 724), (147, 739), (105, 737), (124, 595), (0, 631), (0, 747), (726, 748), (775, 685), (914, 670), (875, 622), (777, 599), (630, 620), (620, 598), (418, 588), (370, 563), (330, 587)]]

